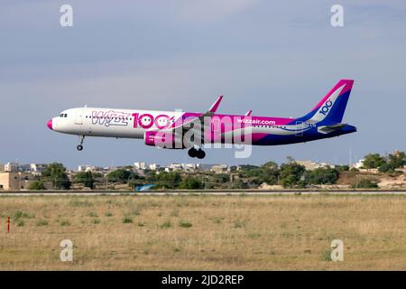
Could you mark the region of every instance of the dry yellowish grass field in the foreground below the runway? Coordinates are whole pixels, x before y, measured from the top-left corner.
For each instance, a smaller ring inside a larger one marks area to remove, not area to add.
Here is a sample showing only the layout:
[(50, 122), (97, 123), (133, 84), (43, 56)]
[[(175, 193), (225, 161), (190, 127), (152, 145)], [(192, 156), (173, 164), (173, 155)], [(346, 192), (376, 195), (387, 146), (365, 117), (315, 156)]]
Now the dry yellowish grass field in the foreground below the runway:
[(2, 197), (0, 218), (0, 270), (406, 270), (404, 196)]

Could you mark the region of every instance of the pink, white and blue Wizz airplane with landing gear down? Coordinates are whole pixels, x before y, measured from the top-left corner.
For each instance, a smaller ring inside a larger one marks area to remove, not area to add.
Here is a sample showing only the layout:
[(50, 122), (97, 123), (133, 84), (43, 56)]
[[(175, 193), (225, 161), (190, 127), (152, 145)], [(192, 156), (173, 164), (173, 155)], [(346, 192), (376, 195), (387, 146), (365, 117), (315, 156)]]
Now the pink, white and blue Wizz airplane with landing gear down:
[[(355, 133), (355, 126), (342, 122), (353, 84), (353, 79), (339, 80), (308, 114), (297, 118), (252, 117), (252, 110), (245, 116), (217, 114), (220, 96), (205, 113), (78, 107), (52, 117), (47, 126), (55, 132), (78, 135), (78, 151), (83, 150), (85, 137), (104, 136), (143, 139), (146, 145), (166, 149), (189, 149), (190, 157), (203, 159), (205, 144), (296, 144)], [(176, 143), (176, 137), (183, 140), (188, 134), (193, 135), (189, 141)]]

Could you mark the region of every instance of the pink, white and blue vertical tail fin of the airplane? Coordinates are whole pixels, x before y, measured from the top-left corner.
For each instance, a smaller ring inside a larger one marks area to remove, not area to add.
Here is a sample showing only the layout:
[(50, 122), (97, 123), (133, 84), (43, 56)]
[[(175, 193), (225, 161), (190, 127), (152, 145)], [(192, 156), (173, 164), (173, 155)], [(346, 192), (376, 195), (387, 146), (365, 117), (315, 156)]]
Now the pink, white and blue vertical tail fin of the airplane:
[(341, 79), (301, 121), (341, 123), (354, 80)]

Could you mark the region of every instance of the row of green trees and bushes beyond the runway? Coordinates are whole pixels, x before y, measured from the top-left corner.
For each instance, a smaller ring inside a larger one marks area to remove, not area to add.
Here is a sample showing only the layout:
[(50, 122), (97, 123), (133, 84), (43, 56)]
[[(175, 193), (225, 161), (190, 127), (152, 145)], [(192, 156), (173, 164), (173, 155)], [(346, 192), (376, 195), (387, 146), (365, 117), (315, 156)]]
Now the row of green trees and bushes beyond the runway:
[[(397, 172), (406, 164), (406, 155), (395, 152), (382, 156), (380, 154), (367, 154), (364, 157), (365, 169), (378, 169), (379, 172)], [(356, 171), (355, 169), (352, 169)], [(154, 189), (248, 189), (258, 188), (261, 184), (281, 185), (284, 188), (306, 188), (311, 185), (335, 184), (341, 172), (350, 171), (347, 165), (333, 167), (319, 167), (306, 170), (303, 165), (296, 163), (292, 158), (288, 162), (278, 165), (274, 162), (263, 165), (232, 166), (230, 173), (214, 172), (156, 172), (145, 171), (140, 175), (133, 171), (132, 166), (119, 168), (109, 172), (106, 176), (95, 172), (77, 172), (69, 179), (66, 168), (62, 163), (50, 163), (42, 172), (40, 180), (33, 182), (31, 190), (45, 190), (45, 182), (51, 182), (56, 190), (69, 190), (72, 183), (82, 184), (84, 187), (94, 189), (98, 182), (114, 184), (127, 184), (134, 188), (143, 184), (154, 184)], [(356, 184), (359, 188), (374, 188), (376, 183), (361, 180)]]

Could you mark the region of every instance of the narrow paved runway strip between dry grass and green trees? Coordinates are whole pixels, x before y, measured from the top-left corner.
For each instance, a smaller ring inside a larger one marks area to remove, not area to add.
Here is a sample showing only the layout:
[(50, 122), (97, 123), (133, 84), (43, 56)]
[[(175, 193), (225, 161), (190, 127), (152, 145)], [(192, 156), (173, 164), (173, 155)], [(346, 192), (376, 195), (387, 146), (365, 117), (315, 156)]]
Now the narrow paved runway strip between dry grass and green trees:
[(406, 191), (7, 191), (0, 192), (1, 196), (120, 196), (120, 195), (212, 195), (212, 196), (241, 196), (241, 195), (406, 195)]

